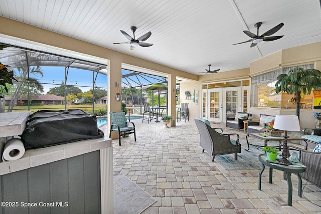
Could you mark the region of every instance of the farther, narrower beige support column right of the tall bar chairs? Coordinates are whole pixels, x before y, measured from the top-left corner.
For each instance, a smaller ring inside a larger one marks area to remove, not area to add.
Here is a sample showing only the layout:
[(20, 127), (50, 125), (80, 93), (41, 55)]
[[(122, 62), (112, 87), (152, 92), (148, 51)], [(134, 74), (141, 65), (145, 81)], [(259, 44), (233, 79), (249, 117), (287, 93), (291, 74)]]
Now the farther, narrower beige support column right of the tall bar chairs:
[(176, 75), (169, 74), (168, 77), (168, 115), (173, 117), (170, 126), (176, 126)]

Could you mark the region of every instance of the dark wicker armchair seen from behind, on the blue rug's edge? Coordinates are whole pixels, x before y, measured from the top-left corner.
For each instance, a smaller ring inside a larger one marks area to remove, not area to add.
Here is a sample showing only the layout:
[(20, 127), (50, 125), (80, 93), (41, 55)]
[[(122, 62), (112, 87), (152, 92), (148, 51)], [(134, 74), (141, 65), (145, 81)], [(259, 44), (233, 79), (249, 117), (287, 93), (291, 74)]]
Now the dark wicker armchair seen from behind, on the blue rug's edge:
[[(206, 150), (210, 155), (213, 155), (212, 161), (216, 155), (234, 153), (234, 158), (237, 160), (237, 153), (241, 153), (241, 144), (239, 143), (238, 134), (222, 134), (212, 128), (208, 120), (202, 118), (195, 118), (195, 123), (199, 129), (201, 141), (200, 146)], [(221, 129), (222, 131), (222, 129)], [(231, 139), (235, 135), (236, 140)]]

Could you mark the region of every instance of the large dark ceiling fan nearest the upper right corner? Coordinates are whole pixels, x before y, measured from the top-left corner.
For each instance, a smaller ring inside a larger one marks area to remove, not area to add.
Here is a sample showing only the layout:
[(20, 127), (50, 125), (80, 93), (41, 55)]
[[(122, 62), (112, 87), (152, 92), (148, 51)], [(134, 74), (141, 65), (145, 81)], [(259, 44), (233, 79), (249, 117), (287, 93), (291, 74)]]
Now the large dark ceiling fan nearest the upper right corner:
[(259, 36), (259, 28), (261, 27), (262, 23), (258, 22), (254, 24), (254, 27), (257, 29), (257, 34), (253, 34), (249, 31), (243, 31), (244, 34), (246, 34), (247, 36), (251, 37), (252, 39), (245, 41), (245, 42), (241, 42), (241, 43), (236, 43), (233, 45), (238, 45), (238, 44), (242, 44), (242, 43), (247, 43), (247, 42), (252, 42), (251, 43), (251, 48), (255, 47), (256, 44), (260, 43), (260, 42), (269, 42), (269, 41), (274, 41), (274, 40), (278, 40), (281, 39), (283, 36), (274, 36), (274, 37), (270, 37), (272, 34), (276, 33), (278, 30), (280, 30), (284, 24), (280, 23), (277, 26), (275, 26), (274, 28), (268, 30), (267, 32), (265, 32), (264, 34), (262, 34), (261, 36)]

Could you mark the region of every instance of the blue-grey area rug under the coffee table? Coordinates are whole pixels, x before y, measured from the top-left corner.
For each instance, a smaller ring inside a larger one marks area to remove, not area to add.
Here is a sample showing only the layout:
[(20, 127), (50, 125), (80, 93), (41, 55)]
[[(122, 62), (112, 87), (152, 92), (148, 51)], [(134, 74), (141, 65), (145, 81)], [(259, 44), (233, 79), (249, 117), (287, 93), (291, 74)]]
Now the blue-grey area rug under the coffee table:
[[(258, 143), (264, 145), (263, 142)], [(275, 145), (274, 145), (275, 144)], [(276, 146), (277, 143), (268, 142), (269, 146)], [(258, 160), (258, 155), (263, 154), (262, 148), (250, 145), (250, 150), (247, 149), (247, 144), (242, 143), (241, 153), (237, 154), (237, 160), (234, 159), (234, 154), (226, 154), (215, 156), (215, 160), (221, 164), (226, 170), (239, 170), (239, 169), (261, 169), (262, 164)]]

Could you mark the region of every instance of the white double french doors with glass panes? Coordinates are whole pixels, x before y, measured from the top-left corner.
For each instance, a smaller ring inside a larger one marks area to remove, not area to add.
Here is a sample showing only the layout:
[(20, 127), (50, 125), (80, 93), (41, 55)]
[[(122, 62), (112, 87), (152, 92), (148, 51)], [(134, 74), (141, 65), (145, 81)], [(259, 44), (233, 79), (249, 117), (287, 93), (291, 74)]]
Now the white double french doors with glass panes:
[(209, 121), (225, 122), (241, 108), (241, 87), (208, 89), (207, 116)]

